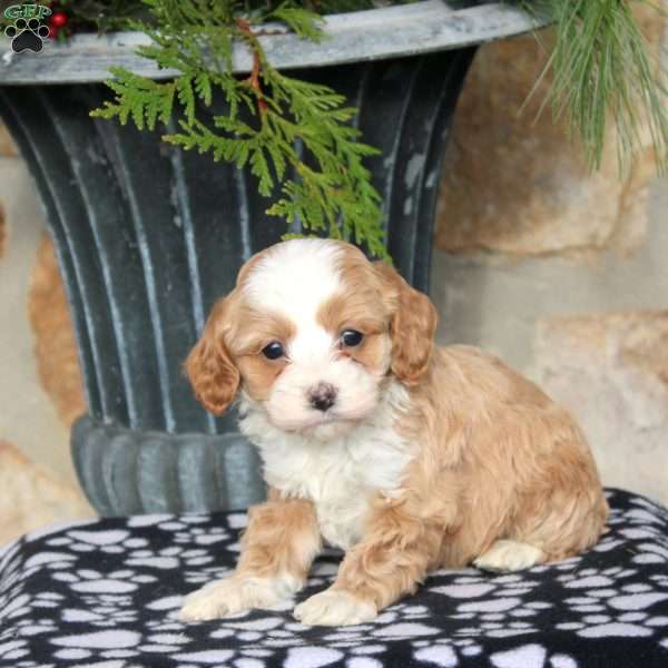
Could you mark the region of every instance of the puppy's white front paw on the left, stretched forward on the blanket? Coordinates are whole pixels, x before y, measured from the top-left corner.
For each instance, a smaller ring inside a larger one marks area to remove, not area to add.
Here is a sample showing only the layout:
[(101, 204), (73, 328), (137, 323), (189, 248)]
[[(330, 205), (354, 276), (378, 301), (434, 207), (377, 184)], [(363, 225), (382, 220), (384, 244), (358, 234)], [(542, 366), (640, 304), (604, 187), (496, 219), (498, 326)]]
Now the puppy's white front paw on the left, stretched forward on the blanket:
[(271, 608), (285, 598), (279, 583), (264, 578), (230, 577), (209, 582), (184, 600), (180, 621), (218, 619), (252, 608)]

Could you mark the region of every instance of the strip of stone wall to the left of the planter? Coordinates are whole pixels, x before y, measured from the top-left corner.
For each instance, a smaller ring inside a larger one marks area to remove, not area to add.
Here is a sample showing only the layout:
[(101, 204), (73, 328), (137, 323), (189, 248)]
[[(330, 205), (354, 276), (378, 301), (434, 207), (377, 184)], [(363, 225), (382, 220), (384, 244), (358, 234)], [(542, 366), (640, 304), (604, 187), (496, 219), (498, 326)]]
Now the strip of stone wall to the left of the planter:
[(85, 410), (73, 333), (43, 212), (0, 127), (0, 544), (94, 514), (69, 426)]

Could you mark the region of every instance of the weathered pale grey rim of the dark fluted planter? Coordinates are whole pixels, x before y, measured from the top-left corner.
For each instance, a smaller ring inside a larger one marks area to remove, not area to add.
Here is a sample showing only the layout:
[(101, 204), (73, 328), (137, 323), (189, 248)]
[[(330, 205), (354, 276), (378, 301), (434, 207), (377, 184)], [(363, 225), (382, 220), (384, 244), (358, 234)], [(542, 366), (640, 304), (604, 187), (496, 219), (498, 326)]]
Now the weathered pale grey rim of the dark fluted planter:
[[(549, 22), (547, 16), (533, 19), (503, 2), (453, 9), (443, 0), (423, 0), (325, 17), (322, 27), (326, 38), (320, 43), (302, 39), (281, 24), (258, 39), (274, 67), (294, 69), (456, 49), (528, 32)], [(48, 41), (40, 53), (14, 53), (6, 39), (0, 49), (0, 85), (105, 81), (110, 78), (110, 66), (153, 79), (178, 75), (177, 70), (158, 69), (153, 60), (135, 53), (137, 47), (149, 43), (141, 32), (76, 35), (65, 45)], [(234, 71), (248, 72), (252, 65), (247, 47), (235, 43)]]

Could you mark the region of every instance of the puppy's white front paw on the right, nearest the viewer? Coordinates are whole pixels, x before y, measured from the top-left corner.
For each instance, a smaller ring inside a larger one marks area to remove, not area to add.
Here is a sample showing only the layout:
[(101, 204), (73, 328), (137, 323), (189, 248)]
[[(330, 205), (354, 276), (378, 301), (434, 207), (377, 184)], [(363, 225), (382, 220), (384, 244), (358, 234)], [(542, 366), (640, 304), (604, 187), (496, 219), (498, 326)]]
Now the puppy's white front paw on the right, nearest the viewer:
[(310, 626), (351, 626), (371, 621), (376, 607), (342, 589), (326, 589), (295, 608), (295, 618)]

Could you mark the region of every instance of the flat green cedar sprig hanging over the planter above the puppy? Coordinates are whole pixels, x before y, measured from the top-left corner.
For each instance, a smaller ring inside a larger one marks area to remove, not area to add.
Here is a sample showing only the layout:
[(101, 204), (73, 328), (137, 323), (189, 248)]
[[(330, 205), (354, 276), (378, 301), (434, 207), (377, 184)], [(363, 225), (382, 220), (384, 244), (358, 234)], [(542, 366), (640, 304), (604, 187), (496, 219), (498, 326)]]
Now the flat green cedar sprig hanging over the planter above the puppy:
[[(292, 1), (243, 16), (246, 3), (234, 0), (144, 1), (157, 27), (143, 27), (153, 43), (143, 47), (140, 55), (181, 73), (156, 82), (114, 69), (115, 79), (107, 85), (115, 98), (92, 116), (118, 118), (122, 124), (131, 119), (139, 129), (154, 129), (158, 120), (167, 126), (175, 116), (179, 130), (163, 139), (249, 169), (261, 195), (278, 197), (269, 214), (288, 223), (298, 219), (307, 232), (354, 238), (387, 258), (381, 197), (363, 165), (377, 150), (362, 144), (360, 131), (351, 127), (356, 109), (346, 107), (345, 98), (326, 86), (275, 70), (257, 39), (269, 20), (317, 39), (320, 17)], [(245, 41), (253, 53), (245, 79), (232, 73), (235, 39)], [(227, 102), (225, 114), (203, 115), (202, 108), (218, 97)], [(296, 150), (297, 145), (302, 150)]]

